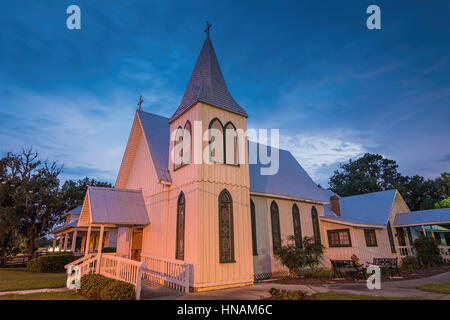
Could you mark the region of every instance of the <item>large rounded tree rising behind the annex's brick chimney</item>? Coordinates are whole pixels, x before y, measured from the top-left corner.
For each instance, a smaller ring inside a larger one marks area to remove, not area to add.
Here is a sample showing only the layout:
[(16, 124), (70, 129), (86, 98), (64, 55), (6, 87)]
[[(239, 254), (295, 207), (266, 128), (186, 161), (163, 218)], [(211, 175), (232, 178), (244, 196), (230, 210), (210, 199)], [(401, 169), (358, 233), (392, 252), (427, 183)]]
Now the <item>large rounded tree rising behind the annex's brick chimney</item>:
[(342, 197), (392, 189), (401, 177), (397, 168), (394, 160), (366, 153), (341, 164), (329, 180), (330, 189)]

